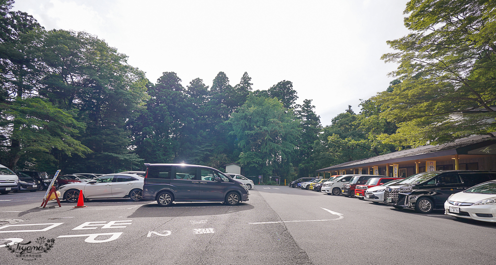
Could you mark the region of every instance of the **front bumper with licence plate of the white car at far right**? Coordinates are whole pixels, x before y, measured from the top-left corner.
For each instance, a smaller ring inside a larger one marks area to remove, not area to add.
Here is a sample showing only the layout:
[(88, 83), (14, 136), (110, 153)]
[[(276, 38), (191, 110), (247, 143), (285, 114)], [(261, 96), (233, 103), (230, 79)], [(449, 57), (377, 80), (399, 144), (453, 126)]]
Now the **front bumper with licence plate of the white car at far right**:
[[(450, 211), (455, 210), (456, 208), (458, 209), (458, 213)], [(448, 202), (444, 202), (444, 214), (457, 218), (496, 222), (495, 205), (455, 206)]]

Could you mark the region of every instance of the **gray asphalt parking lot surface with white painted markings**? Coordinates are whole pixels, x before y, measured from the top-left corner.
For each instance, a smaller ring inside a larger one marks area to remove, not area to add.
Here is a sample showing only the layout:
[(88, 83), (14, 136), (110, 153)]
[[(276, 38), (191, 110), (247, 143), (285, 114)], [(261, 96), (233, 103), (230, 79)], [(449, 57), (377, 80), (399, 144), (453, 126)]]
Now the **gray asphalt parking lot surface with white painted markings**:
[(496, 264), (494, 224), (284, 186), (256, 186), (238, 206), (112, 199), (40, 209), (43, 195), (0, 196), (0, 239), (43, 236), (53, 248), (23, 260), (2, 247), (0, 264)]

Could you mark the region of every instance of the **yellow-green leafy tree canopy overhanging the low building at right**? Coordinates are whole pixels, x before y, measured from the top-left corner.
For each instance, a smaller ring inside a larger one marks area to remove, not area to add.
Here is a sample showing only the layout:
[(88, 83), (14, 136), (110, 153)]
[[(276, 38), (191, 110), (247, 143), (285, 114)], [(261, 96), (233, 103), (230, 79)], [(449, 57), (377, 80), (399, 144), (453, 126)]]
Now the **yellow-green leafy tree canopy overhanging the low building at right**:
[[(496, 130), (496, 2), (410, 0), (412, 32), (387, 43), (401, 81), (382, 92), (381, 115), (398, 124), (384, 141), (419, 146)], [(492, 135), (492, 134), (491, 134)]]

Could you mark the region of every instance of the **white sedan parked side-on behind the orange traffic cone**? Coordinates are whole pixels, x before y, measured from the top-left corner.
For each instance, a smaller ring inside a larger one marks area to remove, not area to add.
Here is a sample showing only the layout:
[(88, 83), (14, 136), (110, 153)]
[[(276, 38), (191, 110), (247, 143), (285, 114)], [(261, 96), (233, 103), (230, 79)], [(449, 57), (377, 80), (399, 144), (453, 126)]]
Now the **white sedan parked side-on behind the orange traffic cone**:
[(84, 199), (129, 198), (139, 201), (143, 192), (143, 179), (134, 174), (108, 174), (88, 182), (63, 185), (59, 188), (60, 198), (77, 202), (79, 191), (82, 190)]

